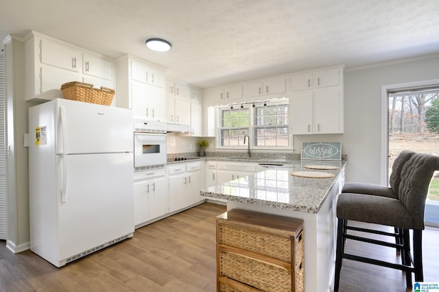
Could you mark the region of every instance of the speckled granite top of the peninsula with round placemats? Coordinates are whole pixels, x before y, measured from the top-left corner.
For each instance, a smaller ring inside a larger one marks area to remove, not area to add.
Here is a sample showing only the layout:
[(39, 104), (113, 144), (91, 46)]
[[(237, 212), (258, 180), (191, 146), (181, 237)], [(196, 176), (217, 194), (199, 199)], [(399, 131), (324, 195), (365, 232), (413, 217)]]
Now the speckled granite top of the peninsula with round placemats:
[[(288, 164), (283, 167), (268, 168), (257, 174), (209, 187), (200, 191), (200, 194), (211, 198), (246, 202), (277, 209), (318, 213), (333, 184), (344, 172), (346, 161), (292, 160), (286, 162)], [(305, 168), (305, 165), (309, 164), (333, 165), (339, 169), (313, 170)], [(334, 176), (331, 178), (304, 178), (291, 175), (291, 172), (303, 171), (325, 172)]]

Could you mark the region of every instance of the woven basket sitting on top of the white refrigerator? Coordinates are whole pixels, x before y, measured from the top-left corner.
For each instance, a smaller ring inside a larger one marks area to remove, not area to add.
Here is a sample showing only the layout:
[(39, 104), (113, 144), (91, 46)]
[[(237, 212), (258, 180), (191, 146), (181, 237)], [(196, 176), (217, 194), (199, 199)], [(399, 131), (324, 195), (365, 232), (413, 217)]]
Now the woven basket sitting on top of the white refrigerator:
[(98, 105), (111, 105), (115, 97), (115, 90), (110, 88), (93, 88), (93, 84), (82, 82), (68, 82), (61, 85), (64, 98), (84, 103), (97, 103)]

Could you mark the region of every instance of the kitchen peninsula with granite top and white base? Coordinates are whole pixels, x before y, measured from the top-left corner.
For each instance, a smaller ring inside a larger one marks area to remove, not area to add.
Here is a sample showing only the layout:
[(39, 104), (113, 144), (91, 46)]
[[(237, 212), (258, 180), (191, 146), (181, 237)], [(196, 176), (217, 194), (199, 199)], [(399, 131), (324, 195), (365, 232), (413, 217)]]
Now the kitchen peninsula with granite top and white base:
[[(309, 169), (310, 165), (329, 169)], [(335, 204), (344, 184), (344, 165), (345, 161), (292, 161), (282, 168), (268, 168), (209, 187), (202, 190), (201, 195), (227, 200), (227, 210), (244, 209), (302, 219), (305, 291), (331, 291), (335, 263)], [(292, 175), (293, 172), (305, 176), (313, 176), (308, 175), (310, 172), (324, 173), (332, 177), (301, 177)]]

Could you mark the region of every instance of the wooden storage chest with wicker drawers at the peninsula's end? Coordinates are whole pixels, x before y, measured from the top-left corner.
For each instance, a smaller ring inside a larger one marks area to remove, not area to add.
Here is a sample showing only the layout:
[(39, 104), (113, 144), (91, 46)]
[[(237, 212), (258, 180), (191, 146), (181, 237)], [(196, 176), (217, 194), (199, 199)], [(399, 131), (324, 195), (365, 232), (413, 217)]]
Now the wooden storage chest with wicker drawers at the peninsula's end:
[(217, 217), (217, 291), (305, 291), (303, 220), (233, 209)]

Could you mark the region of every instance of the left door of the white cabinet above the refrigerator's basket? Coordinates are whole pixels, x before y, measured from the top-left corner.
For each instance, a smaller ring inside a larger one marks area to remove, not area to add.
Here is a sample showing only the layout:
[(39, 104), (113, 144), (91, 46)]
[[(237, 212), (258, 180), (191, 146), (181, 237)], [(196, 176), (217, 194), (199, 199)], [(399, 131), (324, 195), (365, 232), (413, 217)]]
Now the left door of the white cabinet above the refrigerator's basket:
[(81, 52), (70, 47), (41, 40), (41, 63), (73, 72), (81, 72)]

